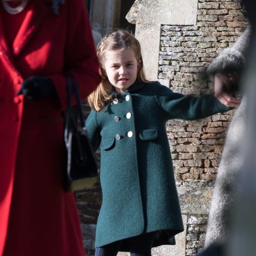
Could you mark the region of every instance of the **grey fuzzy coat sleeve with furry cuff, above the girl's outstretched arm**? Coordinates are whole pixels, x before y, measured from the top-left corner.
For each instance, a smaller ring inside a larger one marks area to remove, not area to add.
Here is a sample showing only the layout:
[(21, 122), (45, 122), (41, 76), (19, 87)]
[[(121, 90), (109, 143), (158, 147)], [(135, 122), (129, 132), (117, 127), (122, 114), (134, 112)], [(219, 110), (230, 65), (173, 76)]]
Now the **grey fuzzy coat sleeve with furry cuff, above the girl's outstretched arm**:
[(207, 74), (211, 77), (214, 74), (240, 72), (245, 64), (246, 52), (251, 37), (251, 26), (247, 26), (243, 34), (230, 47), (224, 49), (207, 68)]

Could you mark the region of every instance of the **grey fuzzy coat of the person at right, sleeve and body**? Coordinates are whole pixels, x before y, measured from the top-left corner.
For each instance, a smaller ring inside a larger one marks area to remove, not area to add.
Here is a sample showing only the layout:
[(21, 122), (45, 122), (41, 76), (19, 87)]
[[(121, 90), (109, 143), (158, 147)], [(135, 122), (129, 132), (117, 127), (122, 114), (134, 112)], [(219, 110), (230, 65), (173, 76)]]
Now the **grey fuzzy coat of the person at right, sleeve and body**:
[[(248, 26), (233, 46), (223, 50), (210, 64), (207, 72), (214, 76), (217, 72), (241, 72), (249, 47), (251, 28)], [(213, 244), (225, 242), (229, 233), (230, 211), (233, 209), (237, 175), (241, 170), (241, 145), (245, 128), (246, 99), (243, 98), (229, 125), (225, 146), (215, 187), (213, 191), (209, 220), (205, 237), (205, 249)]]

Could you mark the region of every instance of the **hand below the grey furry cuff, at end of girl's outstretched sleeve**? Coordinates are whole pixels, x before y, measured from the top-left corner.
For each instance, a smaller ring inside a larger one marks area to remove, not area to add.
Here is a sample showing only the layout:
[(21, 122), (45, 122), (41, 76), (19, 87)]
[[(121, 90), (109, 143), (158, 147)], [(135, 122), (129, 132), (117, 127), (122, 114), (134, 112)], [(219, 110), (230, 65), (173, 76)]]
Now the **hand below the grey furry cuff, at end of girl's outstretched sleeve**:
[(241, 102), (240, 97), (235, 97), (238, 90), (238, 77), (236, 74), (216, 73), (214, 76), (214, 96), (228, 107), (238, 107)]

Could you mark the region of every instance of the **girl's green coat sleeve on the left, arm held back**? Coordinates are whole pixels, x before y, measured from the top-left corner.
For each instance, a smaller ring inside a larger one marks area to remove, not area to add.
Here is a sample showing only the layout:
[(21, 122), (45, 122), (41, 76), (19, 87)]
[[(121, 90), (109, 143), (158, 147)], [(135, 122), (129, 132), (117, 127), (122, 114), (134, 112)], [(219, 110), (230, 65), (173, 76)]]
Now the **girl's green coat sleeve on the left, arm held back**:
[(97, 111), (91, 110), (86, 119), (85, 126), (89, 141), (91, 142), (94, 151), (96, 151), (101, 141), (100, 127), (97, 123)]

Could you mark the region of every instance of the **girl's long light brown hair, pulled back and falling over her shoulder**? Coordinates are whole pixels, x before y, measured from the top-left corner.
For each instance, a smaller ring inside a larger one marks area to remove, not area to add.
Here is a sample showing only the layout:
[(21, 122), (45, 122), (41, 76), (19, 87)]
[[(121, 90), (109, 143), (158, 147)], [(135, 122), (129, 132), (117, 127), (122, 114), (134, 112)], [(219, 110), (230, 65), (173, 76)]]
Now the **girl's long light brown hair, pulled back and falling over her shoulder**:
[(108, 80), (105, 73), (105, 53), (107, 51), (130, 49), (134, 52), (135, 58), (139, 63), (137, 79), (141, 82), (149, 82), (143, 70), (143, 60), (141, 56), (141, 47), (139, 41), (127, 30), (119, 29), (101, 39), (97, 47), (97, 55), (100, 62), (100, 75), (102, 82), (97, 89), (88, 97), (90, 107), (96, 111), (102, 110), (108, 101), (111, 101), (111, 93), (115, 92), (114, 86)]

